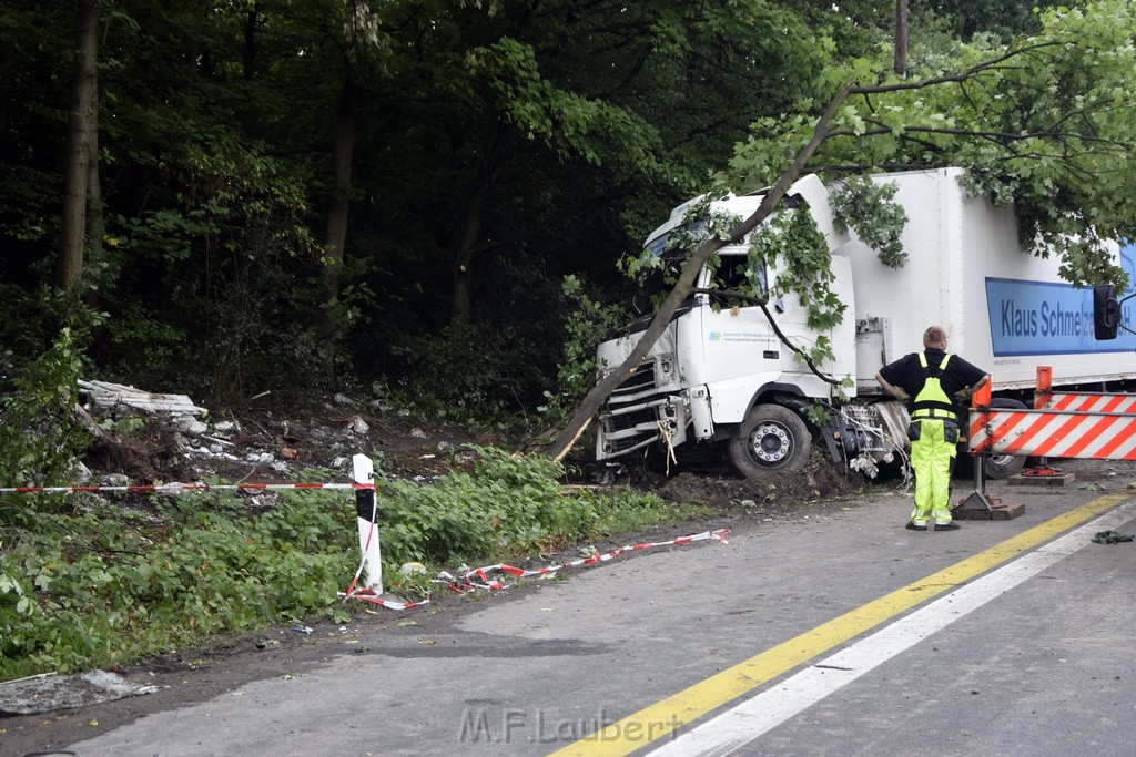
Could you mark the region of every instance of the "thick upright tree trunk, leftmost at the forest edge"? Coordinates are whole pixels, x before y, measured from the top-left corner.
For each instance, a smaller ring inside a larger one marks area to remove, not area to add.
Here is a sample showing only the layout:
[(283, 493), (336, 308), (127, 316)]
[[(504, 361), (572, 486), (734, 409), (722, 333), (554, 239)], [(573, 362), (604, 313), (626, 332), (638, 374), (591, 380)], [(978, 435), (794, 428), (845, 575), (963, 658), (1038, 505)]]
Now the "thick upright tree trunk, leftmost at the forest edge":
[(97, 128), (99, 2), (78, 0), (75, 25), (75, 65), (67, 118), (67, 161), (64, 171), (64, 209), (59, 232), (56, 286), (74, 294), (83, 276), (83, 238), (86, 233), (86, 191)]

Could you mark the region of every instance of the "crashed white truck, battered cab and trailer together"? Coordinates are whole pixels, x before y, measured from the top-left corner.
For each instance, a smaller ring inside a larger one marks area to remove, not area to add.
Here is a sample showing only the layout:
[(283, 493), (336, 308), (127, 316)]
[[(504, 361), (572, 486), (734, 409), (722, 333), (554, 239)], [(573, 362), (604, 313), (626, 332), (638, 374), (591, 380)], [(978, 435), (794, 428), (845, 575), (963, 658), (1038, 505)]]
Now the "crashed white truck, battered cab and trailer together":
[[(1094, 339), (1092, 291), (1061, 281), (1056, 260), (1022, 250), (1013, 210), (967, 196), (962, 174), (872, 177), (895, 185), (894, 202), (908, 217), (902, 268), (885, 266), (837, 227), (817, 176), (796, 182), (778, 212), (811, 213), (829, 253), (829, 289), (846, 305), (843, 319), (810, 327), (801, 297), (770, 288), (782, 256), (770, 264), (747, 244), (722, 247), (720, 262), (700, 271), (696, 293), (612, 392), (600, 414), (596, 457), (724, 451), (741, 473), (762, 477), (800, 468), (820, 441), (835, 462), (872, 473), (908, 448), (907, 407), (883, 394), (875, 373), (921, 348), (930, 325), (947, 329), (952, 351), (991, 372), (1001, 406), (1025, 406), (1038, 364), (1053, 367), (1054, 386), (1136, 377), (1128, 354), (1136, 336), (1102, 347)], [(711, 211), (745, 218), (761, 200), (729, 196)], [(693, 201), (676, 208), (648, 238), (646, 254), (671, 252), (674, 236), (701, 222), (687, 217), (694, 209), (705, 212)], [(1117, 252), (1131, 277), (1131, 256)], [(745, 284), (761, 294), (760, 303), (734, 296)], [(600, 345), (601, 371), (624, 362), (650, 321), (646, 313)], [(813, 370), (797, 351), (818, 340), (827, 340), (830, 358)], [(1010, 476), (1022, 462), (1002, 456), (987, 472)]]

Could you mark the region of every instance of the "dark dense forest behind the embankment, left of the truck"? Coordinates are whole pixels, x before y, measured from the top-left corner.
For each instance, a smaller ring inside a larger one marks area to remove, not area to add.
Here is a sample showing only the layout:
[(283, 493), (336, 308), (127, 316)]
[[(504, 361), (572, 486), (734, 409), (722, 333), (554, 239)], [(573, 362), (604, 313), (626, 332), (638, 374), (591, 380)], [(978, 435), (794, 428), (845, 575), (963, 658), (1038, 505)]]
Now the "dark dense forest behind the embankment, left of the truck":
[[(1034, 31), (1034, 5), (911, 2), (905, 65)], [(826, 67), (889, 58), (895, 20), (878, 0), (6, 0), (0, 390), (66, 327), (89, 378), (206, 404), (350, 386), (548, 420), (594, 381), (620, 256)]]

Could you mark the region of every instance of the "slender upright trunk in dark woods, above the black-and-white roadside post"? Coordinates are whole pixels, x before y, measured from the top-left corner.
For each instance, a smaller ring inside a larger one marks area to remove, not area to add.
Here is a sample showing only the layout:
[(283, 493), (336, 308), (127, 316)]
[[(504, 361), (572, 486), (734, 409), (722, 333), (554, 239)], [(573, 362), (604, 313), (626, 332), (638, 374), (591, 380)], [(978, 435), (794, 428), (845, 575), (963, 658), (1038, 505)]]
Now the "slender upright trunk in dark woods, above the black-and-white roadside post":
[(324, 244), (327, 247), (324, 262), (324, 296), (316, 311), (315, 326), (324, 338), (328, 355), (335, 350), (335, 328), (328, 303), (340, 296), (340, 277), (343, 270), (343, 253), (348, 241), (348, 219), (351, 211), (351, 168), (354, 161), (356, 110), (354, 86), (350, 69), (343, 77), (340, 92), (340, 110), (335, 125), (335, 145), (332, 149), (332, 193), (327, 199), (327, 225)]

